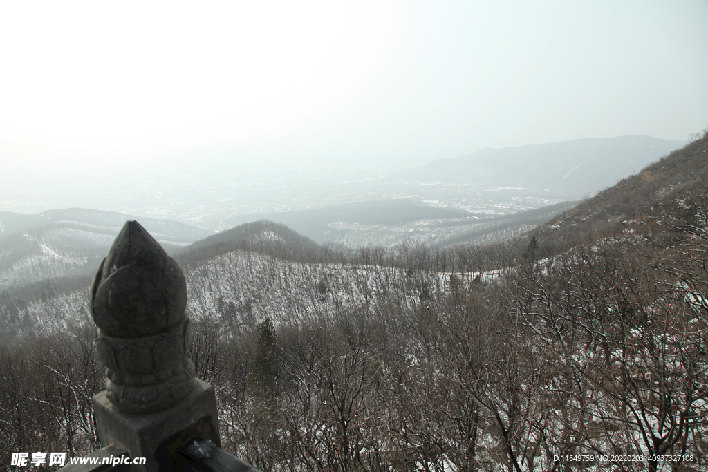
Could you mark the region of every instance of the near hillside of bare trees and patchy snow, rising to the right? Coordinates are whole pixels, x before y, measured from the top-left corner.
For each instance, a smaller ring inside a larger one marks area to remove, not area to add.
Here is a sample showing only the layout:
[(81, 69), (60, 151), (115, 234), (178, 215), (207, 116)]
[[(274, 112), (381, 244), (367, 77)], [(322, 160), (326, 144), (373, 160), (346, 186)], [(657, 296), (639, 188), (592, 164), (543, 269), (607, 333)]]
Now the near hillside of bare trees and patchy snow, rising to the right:
[[(264, 471), (705, 470), (707, 149), (508, 243), (345, 249), (260, 222), (185, 251), (222, 447)], [(5, 452), (98, 444), (81, 293), (3, 305), (28, 317), (0, 347)]]

